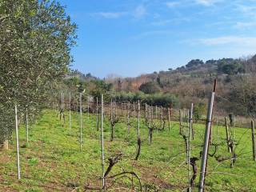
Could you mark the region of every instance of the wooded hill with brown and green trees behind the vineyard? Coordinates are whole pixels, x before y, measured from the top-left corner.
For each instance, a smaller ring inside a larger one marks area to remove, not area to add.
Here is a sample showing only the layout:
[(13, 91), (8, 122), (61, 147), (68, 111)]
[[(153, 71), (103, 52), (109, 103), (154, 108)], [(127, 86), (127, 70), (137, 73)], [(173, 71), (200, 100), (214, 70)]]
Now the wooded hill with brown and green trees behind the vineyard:
[[(189, 107), (191, 102), (206, 109), (208, 95), (214, 79), (218, 79), (218, 112), (251, 116), (256, 109), (256, 55), (248, 58), (222, 58), (203, 62), (194, 59), (185, 66), (167, 71), (142, 74), (136, 78), (95, 78), (84, 75), (85, 81), (74, 80), (78, 71), (70, 74), (70, 79), (80, 84), (81, 90), (99, 95), (103, 90), (112, 98), (121, 101), (142, 100), (152, 105)], [(72, 83), (71, 83), (72, 84)], [(103, 91), (103, 92), (104, 92)]]

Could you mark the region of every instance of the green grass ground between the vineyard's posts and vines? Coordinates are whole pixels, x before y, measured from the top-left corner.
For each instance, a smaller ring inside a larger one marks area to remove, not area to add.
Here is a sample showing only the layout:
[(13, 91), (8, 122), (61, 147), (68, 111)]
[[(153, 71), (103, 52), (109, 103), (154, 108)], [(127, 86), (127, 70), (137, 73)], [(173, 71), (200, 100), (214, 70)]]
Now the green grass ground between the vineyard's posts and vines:
[[(30, 142), (26, 145), (26, 129), (20, 126), (20, 155), (22, 179), (18, 181), (16, 174), (15, 142), (10, 141), (10, 150), (0, 150), (0, 191), (84, 191), (84, 186), (101, 186), (101, 146), (100, 132), (96, 129), (95, 116), (83, 114), (82, 151), (79, 147), (79, 115), (72, 114), (72, 128), (68, 122), (62, 127), (54, 110), (45, 110), (42, 118), (30, 129)], [(66, 113), (67, 116), (67, 113)], [(67, 118), (66, 118), (67, 119)], [(122, 171), (134, 171), (141, 179), (142, 191), (186, 191), (187, 165), (185, 142), (178, 134), (178, 122), (172, 122), (172, 128), (155, 131), (152, 146), (149, 145), (148, 130), (142, 120), (142, 151), (138, 161), (136, 155), (136, 127), (134, 121), (127, 134), (126, 122), (118, 122), (115, 127), (114, 142), (110, 142), (110, 123), (105, 121), (105, 155), (106, 167), (108, 158), (122, 153), (110, 175)], [(192, 157), (198, 157), (202, 150), (204, 125), (194, 124), (195, 138), (191, 142)], [(244, 134), (246, 131), (246, 134)], [(217, 155), (230, 157), (225, 142), (225, 128), (218, 127), (219, 146)], [(234, 129), (235, 140), (238, 141), (235, 152), (238, 155), (234, 168), (230, 168), (230, 160), (217, 162), (209, 157), (206, 191), (256, 191), (256, 162), (252, 161), (250, 130)], [(242, 136), (243, 135), (243, 136)], [(216, 142), (214, 127), (214, 142)], [(14, 138), (14, 137), (13, 137)], [(214, 147), (210, 147), (210, 153)], [(197, 162), (198, 173), (200, 162)], [(193, 191), (198, 190), (198, 177)], [(113, 180), (107, 179), (110, 185)], [(135, 190), (138, 180), (133, 178)], [(119, 179), (109, 191), (130, 191), (129, 178)], [(74, 189), (74, 186), (76, 189)], [(87, 190), (86, 190), (87, 191)], [(89, 190), (88, 190), (89, 191)]]

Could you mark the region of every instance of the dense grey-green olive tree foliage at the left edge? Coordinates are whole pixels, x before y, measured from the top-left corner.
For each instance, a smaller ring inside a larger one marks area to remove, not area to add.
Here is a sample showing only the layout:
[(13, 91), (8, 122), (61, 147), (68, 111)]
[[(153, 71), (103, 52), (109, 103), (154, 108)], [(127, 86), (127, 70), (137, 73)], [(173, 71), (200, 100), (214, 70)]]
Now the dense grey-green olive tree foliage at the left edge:
[(36, 117), (49, 101), (69, 70), (76, 28), (58, 2), (0, 1), (0, 142), (14, 127), (14, 105)]

